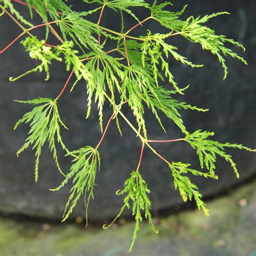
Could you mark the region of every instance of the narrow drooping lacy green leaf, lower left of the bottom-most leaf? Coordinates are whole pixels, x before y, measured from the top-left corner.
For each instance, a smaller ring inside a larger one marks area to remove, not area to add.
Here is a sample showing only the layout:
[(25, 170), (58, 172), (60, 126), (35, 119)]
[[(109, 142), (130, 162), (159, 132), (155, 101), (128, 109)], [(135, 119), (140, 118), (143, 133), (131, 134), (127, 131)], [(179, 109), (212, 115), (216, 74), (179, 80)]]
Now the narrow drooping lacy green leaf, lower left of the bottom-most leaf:
[(70, 179), (73, 179), (73, 186), (70, 190), (70, 197), (66, 203), (62, 221), (69, 218), (69, 215), (76, 206), (78, 199), (84, 194), (87, 223), (87, 208), (90, 199), (93, 199), (96, 171), (100, 167), (99, 152), (90, 146), (86, 146), (82, 149), (68, 153), (67, 156), (69, 155), (75, 156), (75, 158), (72, 160), (73, 165), (71, 166), (70, 172), (66, 175), (66, 178), (63, 180), (62, 184), (60, 184), (57, 188), (52, 189), (52, 191), (58, 191), (60, 188), (64, 187), (64, 185), (66, 185)]

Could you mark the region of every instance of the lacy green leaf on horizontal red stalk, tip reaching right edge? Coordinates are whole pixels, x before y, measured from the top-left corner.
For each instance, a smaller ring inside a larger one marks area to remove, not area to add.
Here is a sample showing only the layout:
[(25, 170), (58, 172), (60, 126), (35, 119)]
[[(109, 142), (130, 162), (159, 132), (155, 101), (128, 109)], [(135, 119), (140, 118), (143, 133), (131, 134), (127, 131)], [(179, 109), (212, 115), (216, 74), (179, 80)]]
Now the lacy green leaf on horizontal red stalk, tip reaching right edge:
[(226, 161), (228, 161), (232, 168), (234, 169), (235, 174), (239, 178), (239, 173), (237, 170), (237, 166), (234, 163), (230, 154), (225, 152), (226, 147), (234, 147), (240, 150), (247, 151), (255, 151), (250, 149), (249, 147), (245, 147), (239, 144), (231, 144), (231, 143), (220, 143), (214, 140), (207, 139), (209, 136), (214, 136), (214, 132), (206, 132), (202, 130), (197, 130), (192, 134), (187, 134), (185, 137), (186, 142), (188, 142), (193, 149), (197, 150), (197, 154), (199, 157), (201, 168), (206, 167), (207, 170), (210, 171), (211, 177), (215, 176), (215, 161), (217, 155), (223, 157)]

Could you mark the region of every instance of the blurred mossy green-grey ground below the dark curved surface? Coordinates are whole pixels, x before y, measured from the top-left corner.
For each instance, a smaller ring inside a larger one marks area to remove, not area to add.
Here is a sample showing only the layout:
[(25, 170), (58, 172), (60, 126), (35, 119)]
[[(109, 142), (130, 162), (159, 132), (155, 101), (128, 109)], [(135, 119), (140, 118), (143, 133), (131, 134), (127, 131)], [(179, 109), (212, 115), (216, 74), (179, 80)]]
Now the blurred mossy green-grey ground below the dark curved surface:
[[(129, 250), (133, 221), (103, 230), (84, 223), (59, 223), (0, 217), (0, 255), (171, 255), (255, 256), (256, 182), (224, 197), (207, 201), (210, 217), (189, 210), (154, 218), (158, 234), (140, 224), (138, 239)], [(246, 200), (241, 207), (239, 202)]]

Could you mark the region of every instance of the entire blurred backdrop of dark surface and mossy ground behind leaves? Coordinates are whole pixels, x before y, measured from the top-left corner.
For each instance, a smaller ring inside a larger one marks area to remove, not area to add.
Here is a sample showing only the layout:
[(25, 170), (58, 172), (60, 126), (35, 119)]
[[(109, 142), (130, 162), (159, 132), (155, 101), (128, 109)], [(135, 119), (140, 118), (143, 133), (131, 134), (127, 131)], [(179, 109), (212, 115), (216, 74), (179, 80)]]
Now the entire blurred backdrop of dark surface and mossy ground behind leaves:
[[(82, 1), (69, 1), (77, 10), (88, 10)], [(161, 2), (161, 1), (159, 1)], [(172, 7), (178, 11), (189, 4), (184, 17), (228, 11), (230, 16), (222, 16), (208, 22), (219, 34), (244, 44), (242, 53), (248, 62), (244, 66), (238, 60), (227, 58), (229, 75), (223, 81), (223, 70), (218, 60), (200, 46), (189, 43), (180, 37), (171, 38), (170, 43), (194, 63), (204, 63), (204, 68), (191, 69), (170, 60), (171, 69), (179, 86), (191, 84), (185, 96), (178, 99), (191, 105), (210, 108), (206, 113), (182, 112), (188, 131), (203, 129), (215, 132), (220, 142), (241, 143), (255, 148), (255, 44), (256, 14), (255, 1), (174, 1)], [(24, 6), (17, 6), (24, 16), (29, 17)], [(140, 13), (146, 18), (146, 13)], [(110, 18), (111, 17), (111, 18)], [(96, 17), (97, 19), (97, 17)], [(105, 10), (102, 24), (118, 30), (120, 15)], [(136, 24), (133, 18), (125, 16), (126, 28)], [(34, 24), (42, 21), (35, 15)], [(145, 24), (134, 30), (134, 35), (143, 35), (146, 29), (159, 31), (155, 22)], [(0, 48), (2, 49), (21, 30), (9, 17), (1, 17)], [(43, 38), (44, 29), (35, 31)], [(52, 38), (54, 43), (54, 39)], [(237, 49), (238, 53), (240, 49)], [(34, 179), (34, 152), (28, 150), (16, 157), (28, 132), (27, 126), (13, 131), (17, 119), (29, 110), (25, 105), (14, 103), (13, 99), (33, 99), (56, 97), (62, 89), (68, 73), (64, 66), (53, 63), (51, 78), (44, 82), (44, 74), (36, 73), (10, 83), (10, 76), (17, 76), (36, 65), (21, 45), (16, 43), (0, 56), (0, 254), (2, 255), (125, 255), (129, 249), (133, 222), (131, 212), (110, 230), (102, 230), (102, 224), (111, 220), (122, 206), (122, 197), (115, 192), (122, 188), (138, 163), (140, 143), (125, 123), (121, 123), (123, 137), (114, 124), (107, 132), (100, 147), (102, 167), (97, 173), (95, 200), (89, 207), (90, 225), (85, 230), (83, 199), (75, 208), (70, 220), (60, 224), (70, 184), (58, 192), (56, 187), (62, 176), (56, 170), (51, 154), (45, 147), (39, 166), (39, 180)], [(86, 91), (84, 84), (76, 90), (64, 93), (59, 100), (60, 116), (69, 127), (63, 137), (70, 149), (97, 144), (101, 134), (98, 125), (97, 107), (93, 108), (90, 119), (86, 115)], [(105, 106), (105, 122), (111, 109)], [(133, 122), (132, 113), (124, 113)], [(164, 120), (165, 134), (157, 121), (147, 114), (149, 138), (176, 139), (180, 131), (171, 120)], [(196, 152), (185, 144), (156, 145), (164, 157), (173, 161), (184, 161), (200, 168)], [(191, 177), (207, 199), (211, 217), (204, 217), (193, 203), (184, 204), (179, 193), (174, 190), (170, 171), (164, 163), (144, 152), (142, 175), (147, 181), (152, 200), (154, 221), (159, 234), (151, 232), (149, 225), (143, 223), (139, 237), (131, 255), (250, 255), (256, 250), (256, 163), (253, 153), (230, 150), (240, 171), (238, 180), (231, 167), (218, 159), (219, 180), (206, 180)], [(61, 165), (68, 172), (70, 159), (61, 157)], [(111, 184), (111, 185), (110, 185)]]

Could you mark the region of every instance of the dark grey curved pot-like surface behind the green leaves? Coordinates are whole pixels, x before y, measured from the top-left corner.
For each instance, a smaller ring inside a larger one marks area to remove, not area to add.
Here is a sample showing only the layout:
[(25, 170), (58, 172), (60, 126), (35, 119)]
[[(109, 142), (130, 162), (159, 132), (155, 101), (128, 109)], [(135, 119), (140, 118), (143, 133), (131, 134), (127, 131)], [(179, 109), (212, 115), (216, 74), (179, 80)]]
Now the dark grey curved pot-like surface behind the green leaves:
[[(231, 16), (215, 18), (210, 25), (216, 28), (218, 33), (239, 40), (246, 46), (244, 56), (249, 65), (244, 66), (238, 60), (228, 59), (229, 76), (223, 81), (223, 70), (217, 60), (200, 49), (195, 44), (190, 44), (181, 38), (173, 38), (173, 44), (177, 45), (188, 59), (197, 63), (204, 63), (204, 68), (190, 69), (173, 62), (172, 71), (180, 86), (190, 83), (191, 87), (186, 96), (180, 97), (190, 104), (210, 108), (207, 113), (184, 111), (183, 117), (189, 131), (204, 129), (215, 131), (215, 139), (221, 142), (242, 143), (255, 147), (255, 29), (250, 24), (255, 24), (254, 10), (256, 4), (253, 1), (214, 1), (207, 4), (204, 1), (190, 1), (187, 13), (195, 15), (210, 14), (217, 11), (229, 11)], [(179, 9), (180, 4), (177, 4)], [(21, 7), (23, 8), (23, 7)], [(108, 27), (116, 24), (115, 19), (108, 19), (106, 12), (103, 22)], [(117, 14), (115, 14), (117, 15)], [(37, 19), (35, 24), (41, 21)], [(8, 17), (1, 17), (0, 45), (7, 45), (12, 38), (20, 32)], [(130, 21), (130, 25), (134, 21)], [(153, 23), (149, 26), (157, 29)], [(141, 30), (140, 30), (141, 31)], [(36, 31), (37, 33), (43, 30)], [(138, 31), (139, 32), (139, 31)], [(25, 77), (16, 83), (8, 82), (10, 76), (16, 76), (32, 68), (36, 63), (29, 60), (22, 46), (15, 44), (10, 50), (0, 56), (0, 211), (18, 212), (36, 217), (60, 219), (64, 205), (69, 196), (70, 185), (59, 192), (50, 192), (48, 188), (56, 187), (62, 176), (56, 170), (52, 156), (47, 147), (44, 148), (39, 166), (39, 181), (35, 184), (33, 165), (34, 152), (27, 150), (20, 158), (16, 157), (16, 151), (23, 144), (28, 127), (22, 125), (17, 131), (13, 131), (16, 120), (22, 116), (28, 107), (14, 103), (13, 99), (32, 99), (37, 96), (56, 97), (62, 89), (68, 73), (59, 63), (53, 63), (50, 82), (45, 83), (43, 73), (37, 73)], [(86, 91), (80, 84), (71, 94), (64, 93), (59, 100), (60, 115), (69, 131), (63, 131), (63, 137), (70, 149), (77, 149), (84, 145), (96, 145), (101, 134), (97, 122), (97, 111), (93, 109), (90, 119), (85, 120)], [(111, 115), (111, 110), (105, 107), (105, 119)], [(124, 113), (131, 118), (132, 114), (124, 107)], [(158, 127), (158, 123), (150, 113), (147, 114), (149, 138), (179, 138), (178, 129), (171, 120), (164, 120), (167, 134)], [(109, 219), (115, 215), (122, 205), (122, 198), (115, 192), (122, 188), (124, 181), (129, 177), (131, 170), (136, 168), (140, 152), (139, 140), (129, 127), (121, 122), (123, 137), (114, 125), (106, 135), (104, 143), (99, 151), (102, 158), (100, 172), (97, 173), (95, 200), (89, 207), (91, 220)], [(196, 153), (190, 146), (183, 142), (177, 144), (156, 145), (159, 152), (173, 161), (184, 161), (198, 167)], [(61, 151), (60, 151), (61, 153)], [(217, 170), (220, 179), (206, 180), (193, 178), (200, 191), (207, 197), (219, 191), (226, 190), (229, 186), (238, 184), (244, 179), (255, 174), (255, 156), (253, 153), (233, 151), (230, 153), (238, 164), (241, 173), (240, 180), (230, 166), (224, 160), (219, 159)], [(60, 156), (63, 169), (68, 172), (70, 159)], [(173, 180), (169, 168), (157, 159), (149, 150), (146, 150), (142, 163), (142, 174), (152, 191), (153, 211), (181, 204), (182, 200), (174, 190)], [(73, 217), (84, 214), (83, 199), (75, 208)], [(130, 214), (130, 213), (126, 213)]]

